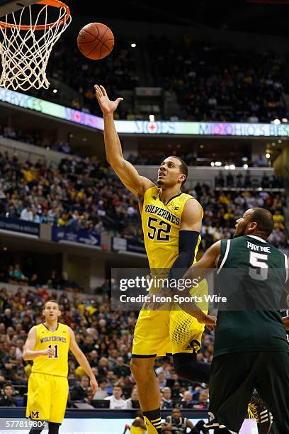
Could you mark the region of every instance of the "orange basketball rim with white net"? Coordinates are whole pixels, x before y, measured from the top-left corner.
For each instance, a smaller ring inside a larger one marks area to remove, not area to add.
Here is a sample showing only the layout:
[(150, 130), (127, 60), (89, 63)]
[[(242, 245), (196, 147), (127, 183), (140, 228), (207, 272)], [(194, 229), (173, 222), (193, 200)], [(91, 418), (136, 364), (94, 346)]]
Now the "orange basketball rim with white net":
[[(58, 12), (58, 18), (49, 22), (52, 12)], [(50, 52), (71, 21), (69, 7), (60, 0), (37, 1), (7, 14), (6, 21), (0, 21), (4, 37), (0, 43), (0, 86), (23, 91), (31, 87), (48, 89), (46, 67)]]

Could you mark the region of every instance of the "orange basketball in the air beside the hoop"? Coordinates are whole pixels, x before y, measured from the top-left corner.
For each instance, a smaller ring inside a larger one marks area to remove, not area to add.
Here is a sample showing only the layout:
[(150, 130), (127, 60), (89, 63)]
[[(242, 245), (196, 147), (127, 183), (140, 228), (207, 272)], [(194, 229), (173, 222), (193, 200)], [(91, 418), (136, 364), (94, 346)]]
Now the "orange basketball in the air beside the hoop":
[(92, 60), (103, 59), (113, 50), (113, 32), (106, 24), (86, 24), (79, 31), (77, 45), (85, 57)]

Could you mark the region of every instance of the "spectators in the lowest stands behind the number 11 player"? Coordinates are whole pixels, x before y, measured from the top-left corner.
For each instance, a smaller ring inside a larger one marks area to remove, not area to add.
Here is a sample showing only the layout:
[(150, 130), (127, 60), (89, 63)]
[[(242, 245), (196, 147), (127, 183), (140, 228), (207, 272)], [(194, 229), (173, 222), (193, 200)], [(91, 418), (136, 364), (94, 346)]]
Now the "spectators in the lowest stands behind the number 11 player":
[[(22, 359), (28, 330), (43, 321), (42, 306), (47, 299), (57, 299), (62, 310), (61, 322), (74, 330), (81, 350), (88, 357), (99, 389), (93, 394), (86, 377), (72, 353), (69, 354), (69, 401), (109, 408), (138, 408), (135, 379), (129, 363), (132, 335), (137, 313), (111, 311), (106, 288), (98, 295), (69, 294), (47, 289), (22, 289), (15, 294), (0, 289), (0, 384), (3, 391), (0, 406), (22, 406), (27, 399), (27, 379), (31, 362)], [(200, 360), (212, 359), (213, 333), (203, 335)], [(208, 389), (205, 384), (188, 384), (174, 372), (169, 357), (157, 360), (156, 375), (161, 391), (162, 408), (208, 408)], [(99, 401), (108, 401), (105, 404)]]

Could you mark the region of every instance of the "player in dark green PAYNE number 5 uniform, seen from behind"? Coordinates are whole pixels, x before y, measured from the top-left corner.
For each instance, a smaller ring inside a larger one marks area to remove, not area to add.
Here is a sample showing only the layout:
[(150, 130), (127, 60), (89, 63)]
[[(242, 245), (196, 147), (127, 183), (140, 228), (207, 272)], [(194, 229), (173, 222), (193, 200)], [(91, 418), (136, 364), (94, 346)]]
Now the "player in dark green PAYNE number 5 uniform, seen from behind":
[[(289, 433), (289, 350), (278, 309), (288, 281), (288, 257), (266, 241), (272, 230), (268, 210), (247, 210), (237, 220), (234, 239), (212, 245), (183, 277), (205, 277), (208, 269), (217, 268), (220, 294), (225, 289), (233, 302), (245, 300), (241, 308), (231, 304), (236, 308), (217, 313), (206, 426), (224, 433), (239, 432), (254, 389), (273, 414), (278, 434)], [(228, 279), (226, 269), (238, 269), (236, 278)], [(256, 301), (252, 292), (260, 304), (246, 308), (248, 299)]]

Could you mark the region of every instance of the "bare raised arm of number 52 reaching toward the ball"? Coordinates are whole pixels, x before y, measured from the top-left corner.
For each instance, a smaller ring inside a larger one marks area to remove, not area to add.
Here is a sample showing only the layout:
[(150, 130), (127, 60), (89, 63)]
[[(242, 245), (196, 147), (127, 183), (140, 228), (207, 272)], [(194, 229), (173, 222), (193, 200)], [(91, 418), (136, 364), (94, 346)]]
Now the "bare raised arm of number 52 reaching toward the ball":
[(141, 200), (145, 191), (150, 187), (154, 187), (154, 183), (145, 177), (141, 177), (137, 169), (123, 157), (120, 139), (113, 121), (113, 113), (117, 109), (118, 104), (120, 104), (120, 101), (123, 101), (123, 98), (111, 101), (108, 99), (106, 89), (103, 86), (96, 84), (94, 89), (96, 90), (96, 99), (103, 112), (106, 160), (113, 167), (113, 170), (125, 187)]

